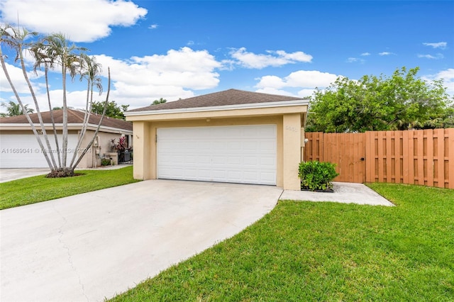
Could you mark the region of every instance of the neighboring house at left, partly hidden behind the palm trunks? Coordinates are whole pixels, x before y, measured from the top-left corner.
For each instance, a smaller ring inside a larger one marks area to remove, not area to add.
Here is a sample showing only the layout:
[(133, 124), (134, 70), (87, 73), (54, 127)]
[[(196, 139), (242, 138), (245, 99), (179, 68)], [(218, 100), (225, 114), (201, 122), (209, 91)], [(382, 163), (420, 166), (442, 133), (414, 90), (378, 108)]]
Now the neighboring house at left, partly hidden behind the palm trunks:
[[(59, 136), (59, 146), (62, 147), (62, 116), (63, 111), (52, 111), (54, 121), (57, 126), (57, 134)], [(84, 111), (68, 109), (68, 152), (67, 164), (70, 164), (72, 153), (76, 150), (78, 135), (82, 130), (84, 121)], [(45, 130), (48, 133), (52, 152), (56, 152), (55, 138), (52, 130), (52, 122), (50, 112), (42, 112)], [(30, 114), (31, 120), (37, 129), (40, 129), (38, 114)], [(101, 116), (94, 113), (90, 114), (87, 133), (84, 136), (84, 141), (80, 148), (87, 147), (92, 140), (94, 131), (97, 128)], [(39, 133), (40, 131), (38, 131)], [(92, 147), (84, 155), (82, 161), (77, 167), (89, 168), (101, 166), (101, 157), (107, 152), (112, 152), (113, 139), (118, 139), (121, 136), (126, 136), (128, 145), (132, 147), (133, 125), (131, 122), (119, 120), (116, 118), (108, 118), (104, 116), (101, 123), (101, 128)], [(43, 145), (45, 145), (45, 140)], [(79, 154), (82, 150), (77, 150)], [(46, 168), (49, 167), (45, 157), (40, 150), (38, 141), (31, 130), (31, 125), (28, 123), (26, 116), (11, 116), (8, 118), (0, 118), (0, 168)], [(57, 158), (55, 157), (55, 162)]]

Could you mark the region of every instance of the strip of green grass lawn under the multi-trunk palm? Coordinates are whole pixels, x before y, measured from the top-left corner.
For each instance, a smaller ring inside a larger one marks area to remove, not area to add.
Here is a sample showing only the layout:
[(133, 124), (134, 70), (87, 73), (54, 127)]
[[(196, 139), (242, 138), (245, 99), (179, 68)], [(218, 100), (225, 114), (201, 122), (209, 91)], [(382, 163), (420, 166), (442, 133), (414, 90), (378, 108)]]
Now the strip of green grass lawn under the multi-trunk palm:
[(45, 178), (44, 175), (0, 184), (0, 209), (131, 184), (133, 167), (109, 170), (77, 170), (77, 177)]

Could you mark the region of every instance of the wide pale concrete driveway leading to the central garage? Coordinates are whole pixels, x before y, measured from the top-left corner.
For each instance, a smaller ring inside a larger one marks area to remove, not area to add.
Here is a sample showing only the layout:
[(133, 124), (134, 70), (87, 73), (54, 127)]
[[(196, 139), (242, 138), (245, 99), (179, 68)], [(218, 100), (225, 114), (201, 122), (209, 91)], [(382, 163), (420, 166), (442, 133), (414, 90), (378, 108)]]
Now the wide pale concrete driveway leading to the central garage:
[(1, 301), (102, 301), (239, 233), (275, 186), (141, 181), (0, 211)]

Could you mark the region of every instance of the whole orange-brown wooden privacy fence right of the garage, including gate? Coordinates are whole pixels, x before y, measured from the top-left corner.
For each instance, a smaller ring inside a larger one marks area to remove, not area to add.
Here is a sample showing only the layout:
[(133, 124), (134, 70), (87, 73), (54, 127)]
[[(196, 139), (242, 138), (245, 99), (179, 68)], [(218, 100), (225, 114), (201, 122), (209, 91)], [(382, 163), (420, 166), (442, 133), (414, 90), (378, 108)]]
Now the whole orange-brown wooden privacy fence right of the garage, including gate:
[(454, 189), (454, 128), (306, 133), (304, 160), (337, 164), (335, 181)]

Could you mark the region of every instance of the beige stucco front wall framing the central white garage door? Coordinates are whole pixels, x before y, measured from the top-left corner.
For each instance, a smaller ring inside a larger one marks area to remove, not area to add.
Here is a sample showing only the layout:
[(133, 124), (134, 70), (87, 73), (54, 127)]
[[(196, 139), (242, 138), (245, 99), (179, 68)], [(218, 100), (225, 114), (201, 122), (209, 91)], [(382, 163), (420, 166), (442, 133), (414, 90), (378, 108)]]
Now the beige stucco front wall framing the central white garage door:
[[(223, 125), (276, 125), (277, 171), (276, 185), (284, 189), (300, 190), (298, 165), (301, 161), (301, 121), (307, 106), (294, 108), (246, 109), (226, 112), (175, 113), (128, 116), (133, 121), (134, 178), (156, 179), (157, 128), (201, 127)], [(248, 114), (245, 114), (248, 111)]]

